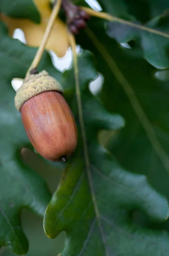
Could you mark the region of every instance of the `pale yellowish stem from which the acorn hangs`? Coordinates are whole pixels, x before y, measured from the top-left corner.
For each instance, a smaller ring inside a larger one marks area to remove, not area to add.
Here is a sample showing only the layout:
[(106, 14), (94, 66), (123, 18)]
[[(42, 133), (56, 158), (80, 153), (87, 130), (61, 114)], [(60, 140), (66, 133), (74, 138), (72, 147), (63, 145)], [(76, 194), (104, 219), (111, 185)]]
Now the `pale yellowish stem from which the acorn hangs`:
[(31, 64), (31, 66), (29, 67), (29, 69), (27, 71), (26, 76), (28, 75), (28, 73), (32, 69), (37, 68), (37, 66), (39, 64), (39, 61), (42, 58), (42, 54), (43, 54), (43, 52), (45, 50), (45, 46), (46, 46), (48, 38), (49, 38), (49, 36), (51, 34), (52, 28), (54, 26), (54, 22), (56, 20), (56, 17), (57, 17), (57, 15), (59, 13), (60, 8), (61, 8), (61, 4), (62, 4), (62, 0), (57, 0), (57, 3), (55, 4), (54, 9), (52, 10), (51, 16), (49, 18), (48, 25), (47, 25), (45, 33), (43, 35), (43, 38), (42, 38), (41, 44), (39, 46), (39, 49), (37, 50), (37, 53), (36, 53), (36, 55), (34, 57), (34, 60), (33, 60), (32, 64)]

